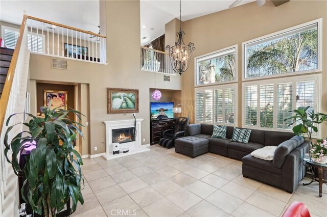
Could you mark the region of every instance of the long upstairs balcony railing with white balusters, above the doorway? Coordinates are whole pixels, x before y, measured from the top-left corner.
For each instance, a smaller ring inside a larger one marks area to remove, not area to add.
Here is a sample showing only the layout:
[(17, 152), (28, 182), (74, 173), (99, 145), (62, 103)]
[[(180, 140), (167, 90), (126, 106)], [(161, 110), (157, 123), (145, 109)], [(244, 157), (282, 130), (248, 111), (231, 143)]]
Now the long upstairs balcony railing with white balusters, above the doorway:
[(106, 36), (56, 22), (28, 16), (31, 52), (106, 63)]

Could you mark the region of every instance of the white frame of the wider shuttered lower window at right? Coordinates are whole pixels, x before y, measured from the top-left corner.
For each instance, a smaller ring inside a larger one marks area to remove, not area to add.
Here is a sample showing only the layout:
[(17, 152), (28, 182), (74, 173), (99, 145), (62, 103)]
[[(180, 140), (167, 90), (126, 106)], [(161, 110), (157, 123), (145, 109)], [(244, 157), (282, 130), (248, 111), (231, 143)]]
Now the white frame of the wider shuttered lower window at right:
[[(315, 105), (314, 105), (314, 111), (316, 113), (319, 113), (321, 111), (321, 73), (319, 74), (312, 74), (312, 75), (302, 75), (302, 76), (293, 76), (293, 77), (283, 77), (283, 78), (276, 78), (276, 79), (269, 79), (269, 80), (262, 80), (260, 84), (258, 84), (258, 81), (252, 81), (252, 82), (244, 82), (242, 83), (242, 105), (245, 105), (245, 87), (246, 86), (257, 86), (260, 87), (260, 85), (269, 85), (273, 84), (274, 85), (274, 111), (273, 111), (273, 128), (266, 128), (266, 127), (260, 127), (260, 104), (259, 100), (257, 101), (258, 107), (257, 107), (257, 120), (256, 120), (256, 125), (257, 126), (246, 126), (245, 125), (245, 109), (242, 109), (242, 127), (244, 128), (249, 128), (249, 129), (262, 129), (262, 130), (273, 130), (273, 131), (292, 131), (292, 129), (279, 129), (277, 128), (277, 122), (276, 122), (276, 105), (277, 105), (277, 99), (276, 99), (276, 92), (277, 92), (277, 84), (279, 83), (289, 83), (292, 82), (292, 93), (296, 93), (296, 82), (305, 82), (307, 80), (314, 80), (315, 81), (315, 95), (314, 95), (314, 100), (315, 100)], [(259, 89), (260, 90), (260, 89)], [(260, 95), (258, 94), (258, 99)], [(296, 108), (296, 97), (292, 97), (292, 110)], [(320, 138), (320, 124), (317, 125), (318, 127), (318, 133), (317, 135), (313, 135), (313, 138)]]

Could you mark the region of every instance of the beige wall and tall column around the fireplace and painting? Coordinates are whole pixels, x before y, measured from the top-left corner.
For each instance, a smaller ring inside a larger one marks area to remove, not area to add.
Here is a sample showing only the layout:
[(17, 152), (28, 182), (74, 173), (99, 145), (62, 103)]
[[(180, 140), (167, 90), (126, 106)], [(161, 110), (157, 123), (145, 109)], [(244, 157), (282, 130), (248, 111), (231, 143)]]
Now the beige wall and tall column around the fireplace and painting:
[[(150, 144), (149, 88), (181, 90), (179, 76), (171, 76), (168, 83), (163, 82), (162, 74), (139, 69), (139, 1), (106, 1), (106, 16), (107, 65), (68, 60), (68, 70), (59, 70), (51, 68), (48, 56), (32, 54), (30, 59), (32, 87), (35, 80), (88, 84), (89, 116), (85, 122), (89, 122), (90, 145), (89, 151), (83, 146), (82, 155), (95, 154), (95, 146), (98, 147), (97, 153), (105, 152), (103, 121), (132, 119), (131, 113), (107, 114), (106, 88), (139, 90), (136, 118), (144, 119), (141, 137), (142, 141), (146, 139), (145, 144)], [(31, 100), (34, 102), (34, 99)]]

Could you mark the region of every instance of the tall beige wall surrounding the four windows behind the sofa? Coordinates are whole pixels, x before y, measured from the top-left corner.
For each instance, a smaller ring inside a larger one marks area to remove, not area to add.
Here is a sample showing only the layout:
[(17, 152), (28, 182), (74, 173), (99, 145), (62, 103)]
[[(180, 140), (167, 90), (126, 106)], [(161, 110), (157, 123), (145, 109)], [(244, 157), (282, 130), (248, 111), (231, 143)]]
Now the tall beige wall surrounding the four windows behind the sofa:
[[(327, 86), (325, 61), (327, 55), (327, 1), (291, 1), (275, 7), (270, 1), (258, 7), (256, 3), (209, 14), (185, 21), (184, 42), (195, 44), (193, 57), (204, 55), (231, 45), (238, 45), (238, 125), (242, 124), (242, 42), (281, 31), (322, 17), (322, 98), (321, 112), (327, 113)], [(194, 108), (194, 58), (189, 70), (182, 75), (182, 101)], [(260, 82), (260, 81), (259, 81)], [(192, 111), (194, 121), (194, 110)], [(326, 136), (327, 124), (322, 125)]]

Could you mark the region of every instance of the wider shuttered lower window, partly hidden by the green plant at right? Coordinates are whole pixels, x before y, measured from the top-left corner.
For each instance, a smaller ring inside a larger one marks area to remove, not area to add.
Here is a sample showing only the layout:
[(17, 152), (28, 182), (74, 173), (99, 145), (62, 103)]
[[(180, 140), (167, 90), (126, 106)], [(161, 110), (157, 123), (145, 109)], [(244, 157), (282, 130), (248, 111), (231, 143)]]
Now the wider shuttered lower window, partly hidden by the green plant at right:
[(265, 82), (243, 83), (243, 126), (273, 130), (292, 129), (292, 110), (310, 106), (319, 112), (321, 75), (279, 78)]

